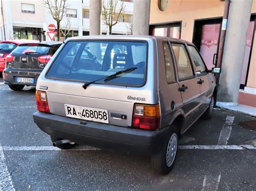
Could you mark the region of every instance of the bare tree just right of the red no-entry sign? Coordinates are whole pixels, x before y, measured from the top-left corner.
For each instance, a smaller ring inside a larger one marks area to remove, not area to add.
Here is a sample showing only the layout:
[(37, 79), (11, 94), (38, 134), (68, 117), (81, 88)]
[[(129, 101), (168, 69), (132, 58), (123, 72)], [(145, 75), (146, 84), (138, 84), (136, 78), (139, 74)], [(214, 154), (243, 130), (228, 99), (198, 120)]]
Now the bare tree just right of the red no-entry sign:
[(66, 0), (43, 0), (45, 7), (49, 9), (49, 13), (57, 23), (57, 40), (59, 41), (60, 22), (68, 11), (69, 4)]

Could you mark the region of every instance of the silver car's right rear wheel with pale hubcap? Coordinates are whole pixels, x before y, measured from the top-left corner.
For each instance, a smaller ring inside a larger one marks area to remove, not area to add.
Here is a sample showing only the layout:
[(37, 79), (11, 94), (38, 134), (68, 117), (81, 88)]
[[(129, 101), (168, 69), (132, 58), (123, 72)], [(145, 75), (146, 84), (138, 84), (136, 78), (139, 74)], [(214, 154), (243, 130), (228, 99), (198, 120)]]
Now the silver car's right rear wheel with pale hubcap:
[(151, 158), (154, 171), (163, 175), (171, 171), (177, 154), (179, 134), (176, 125), (171, 128), (170, 136), (166, 139), (163, 148)]

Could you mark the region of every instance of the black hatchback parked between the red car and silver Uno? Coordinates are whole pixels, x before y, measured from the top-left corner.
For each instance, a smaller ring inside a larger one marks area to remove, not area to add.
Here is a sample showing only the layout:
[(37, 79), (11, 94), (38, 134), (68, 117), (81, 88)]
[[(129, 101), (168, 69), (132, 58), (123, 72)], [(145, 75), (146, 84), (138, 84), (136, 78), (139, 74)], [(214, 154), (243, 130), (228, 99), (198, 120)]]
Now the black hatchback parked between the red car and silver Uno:
[(24, 86), (36, 86), (37, 78), (61, 43), (22, 43), (5, 56), (3, 80), (10, 89), (20, 91)]

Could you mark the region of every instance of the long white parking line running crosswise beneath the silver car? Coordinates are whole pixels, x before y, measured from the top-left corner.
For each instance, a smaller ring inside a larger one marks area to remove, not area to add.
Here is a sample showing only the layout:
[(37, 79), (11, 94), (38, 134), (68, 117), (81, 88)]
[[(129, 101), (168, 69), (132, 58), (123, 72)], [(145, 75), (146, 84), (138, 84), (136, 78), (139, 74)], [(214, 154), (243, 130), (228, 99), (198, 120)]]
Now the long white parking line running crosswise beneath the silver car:
[[(179, 145), (179, 150), (254, 150), (253, 145)], [(100, 148), (77, 146), (67, 151), (96, 151)], [(0, 151), (61, 151), (53, 146), (2, 146)], [(64, 150), (65, 151), (65, 150)]]

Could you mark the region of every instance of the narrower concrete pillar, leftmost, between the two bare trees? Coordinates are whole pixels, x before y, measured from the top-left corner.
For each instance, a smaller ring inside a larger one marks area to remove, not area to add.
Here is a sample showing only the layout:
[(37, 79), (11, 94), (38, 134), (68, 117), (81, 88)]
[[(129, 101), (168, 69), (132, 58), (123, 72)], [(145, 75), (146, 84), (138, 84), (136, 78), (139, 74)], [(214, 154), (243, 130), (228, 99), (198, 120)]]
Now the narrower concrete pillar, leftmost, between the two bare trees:
[(102, 1), (90, 0), (90, 35), (100, 35)]

